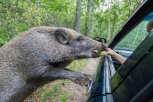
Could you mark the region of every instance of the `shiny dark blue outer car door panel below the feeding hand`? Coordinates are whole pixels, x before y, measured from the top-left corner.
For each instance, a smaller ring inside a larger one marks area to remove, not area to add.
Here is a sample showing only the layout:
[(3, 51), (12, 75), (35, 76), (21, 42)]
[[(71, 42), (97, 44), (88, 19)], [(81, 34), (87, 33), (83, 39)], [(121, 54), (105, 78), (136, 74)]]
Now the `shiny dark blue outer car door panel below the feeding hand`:
[(109, 60), (110, 56), (108, 55), (101, 57), (97, 74), (89, 95), (91, 99), (89, 98), (88, 102), (100, 102), (98, 100), (112, 100), (110, 79), (115, 74), (116, 70), (113, 64), (109, 63), (111, 62)]

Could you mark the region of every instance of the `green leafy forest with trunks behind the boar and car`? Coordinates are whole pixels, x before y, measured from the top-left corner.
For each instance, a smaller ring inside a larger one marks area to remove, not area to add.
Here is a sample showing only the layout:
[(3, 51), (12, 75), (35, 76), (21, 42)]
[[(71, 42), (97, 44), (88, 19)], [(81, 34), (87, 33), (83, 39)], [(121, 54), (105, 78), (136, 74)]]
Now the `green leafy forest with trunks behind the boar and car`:
[(68, 27), (109, 42), (143, 0), (0, 0), (0, 45), (33, 26)]

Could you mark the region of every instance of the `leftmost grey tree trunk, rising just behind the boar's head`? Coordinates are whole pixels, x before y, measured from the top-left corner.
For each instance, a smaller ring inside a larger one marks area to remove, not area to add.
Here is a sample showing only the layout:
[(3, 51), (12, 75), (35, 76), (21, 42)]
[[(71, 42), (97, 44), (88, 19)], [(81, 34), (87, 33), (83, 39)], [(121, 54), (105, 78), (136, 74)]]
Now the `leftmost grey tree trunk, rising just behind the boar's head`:
[(82, 1), (78, 0), (76, 4), (76, 16), (74, 23), (74, 30), (77, 32), (79, 31), (79, 26), (80, 26), (81, 9), (82, 9)]

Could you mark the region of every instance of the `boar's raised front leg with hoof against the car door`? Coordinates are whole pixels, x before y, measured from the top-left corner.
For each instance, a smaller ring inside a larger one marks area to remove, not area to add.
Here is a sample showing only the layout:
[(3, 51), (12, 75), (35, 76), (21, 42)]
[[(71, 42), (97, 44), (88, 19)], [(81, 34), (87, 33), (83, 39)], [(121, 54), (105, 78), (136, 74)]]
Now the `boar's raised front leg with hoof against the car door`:
[(55, 68), (55, 69), (50, 69), (46, 71), (43, 74), (43, 79), (51, 79), (51, 80), (56, 80), (56, 79), (70, 79), (73, 82), (83, 86), (87, 86), (88, 82), (90, 81), (91, 76), (80, 73), (80, 72), (74, 72), (66, 68)]

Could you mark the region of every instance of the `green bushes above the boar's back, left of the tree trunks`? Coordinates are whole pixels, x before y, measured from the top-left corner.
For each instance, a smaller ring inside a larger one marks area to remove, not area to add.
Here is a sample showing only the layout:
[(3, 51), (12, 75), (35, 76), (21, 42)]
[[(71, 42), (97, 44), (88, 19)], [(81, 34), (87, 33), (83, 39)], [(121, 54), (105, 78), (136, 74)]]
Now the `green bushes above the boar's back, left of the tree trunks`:
[(75, 5), (71, 0), (2, 0), (0, 16), (0, 44), (3, 45), (33, 26), (73, 28)]

